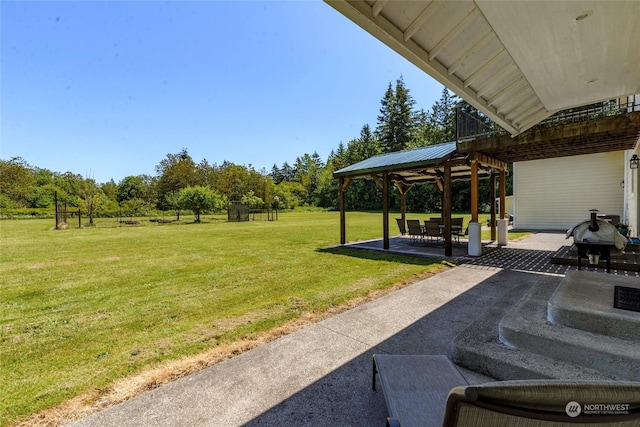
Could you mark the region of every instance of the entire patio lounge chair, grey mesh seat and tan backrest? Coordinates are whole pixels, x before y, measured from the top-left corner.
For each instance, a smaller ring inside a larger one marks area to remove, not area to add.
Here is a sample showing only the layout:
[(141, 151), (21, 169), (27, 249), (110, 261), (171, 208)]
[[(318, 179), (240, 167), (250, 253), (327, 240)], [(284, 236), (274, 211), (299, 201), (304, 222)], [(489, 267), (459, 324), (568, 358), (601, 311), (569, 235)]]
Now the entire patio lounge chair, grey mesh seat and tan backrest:
[(521, 380), (469, 385), (443, 355), (373, 356), (387, 426), (640, 425), (640, 383)]

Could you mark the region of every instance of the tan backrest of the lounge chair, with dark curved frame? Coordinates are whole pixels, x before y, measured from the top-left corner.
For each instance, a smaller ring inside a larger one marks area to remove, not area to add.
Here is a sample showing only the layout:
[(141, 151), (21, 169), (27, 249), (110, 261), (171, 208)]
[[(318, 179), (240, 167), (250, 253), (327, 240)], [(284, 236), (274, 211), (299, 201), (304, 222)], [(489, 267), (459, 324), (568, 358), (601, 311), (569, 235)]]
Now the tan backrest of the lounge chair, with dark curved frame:
[(456, 387), (444, 427), (640, 425), (640, 383), (521, 380)]

